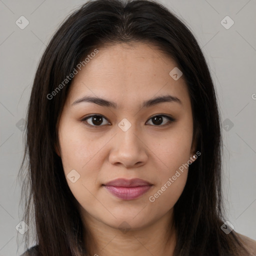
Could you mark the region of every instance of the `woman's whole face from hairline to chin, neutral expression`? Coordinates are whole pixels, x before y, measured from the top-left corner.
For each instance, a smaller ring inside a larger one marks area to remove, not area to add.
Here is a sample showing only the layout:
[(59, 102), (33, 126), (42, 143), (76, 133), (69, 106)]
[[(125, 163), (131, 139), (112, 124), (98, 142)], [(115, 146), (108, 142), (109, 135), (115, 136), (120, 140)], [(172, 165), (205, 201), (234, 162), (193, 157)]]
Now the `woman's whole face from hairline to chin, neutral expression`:
[[(98, 50), (72, 80), (56, 151), (85, 219), (139, 229), (171, 215), (184, 188), (194, 154), (189, 94), (153, 45)], [(107, 185), (116, 178), (126, 182)]]

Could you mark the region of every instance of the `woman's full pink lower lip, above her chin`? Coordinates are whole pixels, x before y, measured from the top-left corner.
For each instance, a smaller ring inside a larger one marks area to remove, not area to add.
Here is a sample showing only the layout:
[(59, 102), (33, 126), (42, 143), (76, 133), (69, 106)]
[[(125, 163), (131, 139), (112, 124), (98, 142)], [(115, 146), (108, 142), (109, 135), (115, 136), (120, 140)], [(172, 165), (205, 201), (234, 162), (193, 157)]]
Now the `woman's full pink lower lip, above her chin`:
[(123, 186), (104, 186), (110, 193), (116, 197), (123, 200), (132, 200), (138, 198), (144, 194), (151, 185), (144, 186), (133, 186), (133, 187), (123, 187)]

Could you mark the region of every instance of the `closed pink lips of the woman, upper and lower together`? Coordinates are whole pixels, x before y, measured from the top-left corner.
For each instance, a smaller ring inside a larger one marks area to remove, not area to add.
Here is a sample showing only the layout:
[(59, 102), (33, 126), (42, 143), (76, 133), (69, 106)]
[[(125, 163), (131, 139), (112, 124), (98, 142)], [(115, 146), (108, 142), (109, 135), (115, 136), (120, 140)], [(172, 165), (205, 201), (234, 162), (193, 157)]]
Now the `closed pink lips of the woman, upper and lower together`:
[(103, 185), (110, 193), (123, 200), (138, 198), (152, 186), (152, 184), (140, 178), (117, 178)]

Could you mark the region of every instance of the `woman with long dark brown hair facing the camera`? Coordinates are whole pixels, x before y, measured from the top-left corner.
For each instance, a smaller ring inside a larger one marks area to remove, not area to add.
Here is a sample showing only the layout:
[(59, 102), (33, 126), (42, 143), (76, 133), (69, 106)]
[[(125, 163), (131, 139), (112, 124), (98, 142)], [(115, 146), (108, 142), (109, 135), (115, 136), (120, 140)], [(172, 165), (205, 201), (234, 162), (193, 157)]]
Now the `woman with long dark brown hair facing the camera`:
[(34, 78), (22, 191), (37, 245), (23, 255), (255, 255), (225, 222), (221, 150), (187, 27), (153, 1), (85, 3)]

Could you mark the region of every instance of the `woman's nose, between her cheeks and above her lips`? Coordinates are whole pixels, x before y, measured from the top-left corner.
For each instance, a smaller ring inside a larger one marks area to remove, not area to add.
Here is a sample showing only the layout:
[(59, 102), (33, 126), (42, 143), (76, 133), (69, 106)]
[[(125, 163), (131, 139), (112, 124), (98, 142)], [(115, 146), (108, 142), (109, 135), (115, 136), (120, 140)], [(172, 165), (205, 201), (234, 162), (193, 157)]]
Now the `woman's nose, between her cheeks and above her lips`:
[(117, 130), (109, 153), (111, 164), (134, 168), (146, 163), (148, 158), (146, 143), (133, 126), (135, 125), (131, 125), (126, 131)]

